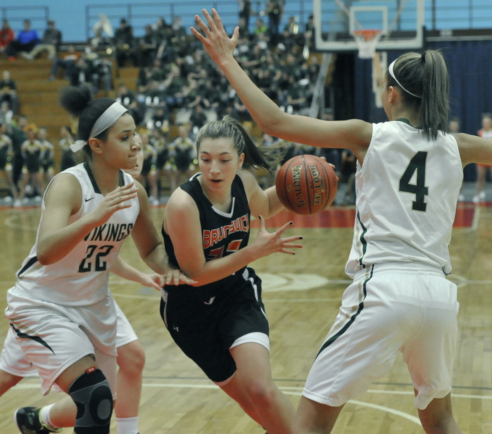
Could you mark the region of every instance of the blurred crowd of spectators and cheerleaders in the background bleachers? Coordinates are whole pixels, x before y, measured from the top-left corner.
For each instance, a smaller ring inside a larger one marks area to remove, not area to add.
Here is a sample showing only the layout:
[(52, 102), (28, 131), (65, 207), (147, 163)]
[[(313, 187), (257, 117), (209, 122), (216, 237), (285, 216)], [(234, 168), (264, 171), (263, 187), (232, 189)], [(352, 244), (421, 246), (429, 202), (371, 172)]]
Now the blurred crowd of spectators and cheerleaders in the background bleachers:
[[(299, 29), (295, 18), (289, 17), (284, 29), (279, 31), (283, 1), (268, 0), (265, 5), (264, 15), (256, 17), (255, 28), (250, 32), (251, 0), (239, 1), (240, 39), (234, 54), (248, 75), (283, 110), (307, 114), (320, 68), (318, 57), (309, 56), (312, 19), (305, 29)], [(8, 29), (8, 23), (4, 22), (3, 28)], [(29, 30), (26, 22), (25, 30)], [(50, 21), (41, 43), (34, 47), (25, 47), (21, 56), (33, 60), (42, 50), (46, 50), (49, 57), (53, 57), (50, 80), (56, 80), (60, 69), (63, 69), (64, 78), (70, 84), (79, 86), (89, 83), (95, 93), (100, 89), (113, 89), (112, 62), (108, 53), (114, 54), (114, 60), (120, 68), (139, 68), (133, 89), (120, 83), (116, 86), (115, 94), (116, 99), (131, 112), (145, 144), (146, 170), (142, 175), (142, 182), (148, 187), (151, 203), (159, 203), (164, 187), (163, 179), (167, 179), (165, 184), (172, 191), (183, 177), (195, 170), (197, 160), (193, 140), (198, 129), (206, 122), (230, 115), (245, 126), (252, 125), (251, 116), (227, 79), (204, 52), (201, 43), (187, 34), (179, 16), (174, 17), (169, 24), (164, 17), (159, 18), (156, 23), (145, 26), (145, 34), (141, 37), (133, 36), (131, 25), (122, 18), (114, 38), (109, 39), (98, 33), (88, 41), (84, 50), (76, 50), (70, 45), (63, 53), (53, 56), (58, 51), (61, 37), (55, 23)], [(18, 47), (15, 41), (16, 39), (7, 42), (8, 54), (13, 54), (8, 51), (12, 44)], [(9, 77), (3, 78), (2, 83)], [(11, 89), (15, 91), (15, 83)], [(9, 96), (8, 93), (0, 93), (0, 98), (5, 100)], [(5, 101), (8, 106), (3, 107), (3, 110), (10, 108), (15, 115), (18, 104), (15, 105), (13, 98), (10, 99)], [(4, 119), (7, 117), (5, 115)], [(176, 125), (175, 129), (172, 128), (173, 125)], [(11, 131), (14, 135), (17, 131), (19, 135), (19, 131), (24, 131), (25, 128), (21, 120), (21, 126), (12, 127)], [(170, 134), (171, 131), (174, 131), (173, 135)], [(75, 164), (76, 159), (69, 149), (69, 144), (73, 142), (70, 127), (64, 126), (60, 134), (60, 140), (56, 141), (61, 153), (59, 170), (64, 170)], [(16, 142), (15, 137), (12, 138)], [(259, 142), (262, 146), (270, 146), (277, 143), (278, 139), (263, 135)], [(13, 159), (22, 158), (22, 146), (19, 148), (19, 145), (19, 140), (17, 146), (13, 145)], [(282, 146), (286, 151), (284, 161), (303, 153), (320, 154), (317, 149), (297, 143), (284, 142)], [(343, 172), (343, 179), (347, 179), (350, 184), (349, 165), (346, 164), (350, 155), (336, 150), (324, 156), (337, 166), (341, 175)], [(263, 175), (258, 174), (260, 177)], [(19, 182), (19, 176), (14, 172), (14, 182)], [(271, 178), (264, 179), (262, 184), (267, 186), (272, 181)], [(39, 190), (38, 185), (42, 186), (42, 179), (32, 177), (26, 186), (29, 187), (30, 184), (33, 185), (33, 191)], [(346, 201), (351, 202), (351, 198), (347, 196)]]

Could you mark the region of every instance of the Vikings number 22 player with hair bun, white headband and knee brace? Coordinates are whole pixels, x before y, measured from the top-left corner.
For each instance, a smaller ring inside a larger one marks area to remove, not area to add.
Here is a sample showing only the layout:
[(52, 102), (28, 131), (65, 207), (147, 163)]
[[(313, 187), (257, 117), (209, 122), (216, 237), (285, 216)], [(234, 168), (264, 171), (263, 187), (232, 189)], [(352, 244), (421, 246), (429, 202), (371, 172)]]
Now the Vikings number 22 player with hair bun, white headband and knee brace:
[[(43, 393), (56, 383), (77, 404), (74, 433), (106, 434), (116, 398), (108, 277), (123, 240), (132, 235), (142, 259), (164, 275), (161, 283), (190, 279), (168, 267), (145, 190), (121, 170), (135, 166), (139, 149), (131, 115), (110, 98), (92, 100), (87, 87), (66, 88), (61, 102), (79, 118), (72, 150), (84, 149), (89, 160), (57, 175), (46, 190), (36, 242), (7, 291), (5, 316)], [(33, 419), (24, 408), (16, 414), (21, 432), (38, 431)], [(49, 426), (49, 414), (38, 419)]]

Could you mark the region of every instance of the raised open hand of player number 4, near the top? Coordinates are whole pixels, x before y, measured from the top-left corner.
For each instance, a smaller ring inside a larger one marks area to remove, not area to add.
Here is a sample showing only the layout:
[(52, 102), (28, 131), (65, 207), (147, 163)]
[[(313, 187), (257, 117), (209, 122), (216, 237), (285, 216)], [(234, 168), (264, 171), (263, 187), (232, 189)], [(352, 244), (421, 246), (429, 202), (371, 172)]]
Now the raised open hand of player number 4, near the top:
[(228, 56), (232, 56), (237, 44), (237, 39), (239, 38), (239, 27), (234, 29), (232, 37), (229, 38), (224, 29), (224, 25), (222, 24), (222, 20), (215, 9), (212, 8), (213, 17), (210, 16), (206, 9), (203, 9), (202, 12), (207, 20), (208, 26), (198, 15), (195, 15), (195, 19), (206, 37), (193, 27), (190, 30), (201, 42), (203, 42), (205, 50), (207, 50), (207, 53), (212, 60), (219, 64), (221, 60)]

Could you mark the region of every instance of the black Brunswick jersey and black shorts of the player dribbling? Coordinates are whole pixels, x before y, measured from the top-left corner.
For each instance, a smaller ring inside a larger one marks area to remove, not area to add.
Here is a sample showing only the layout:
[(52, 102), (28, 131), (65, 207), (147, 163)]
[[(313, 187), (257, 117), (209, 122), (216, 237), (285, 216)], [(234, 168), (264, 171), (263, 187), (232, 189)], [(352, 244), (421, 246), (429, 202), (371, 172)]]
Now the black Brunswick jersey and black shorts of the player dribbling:
[[(203, 194), (197, 173), (180, 187), (196, 202), (207, 261), (227, 256), (248, 245), (250, 209), (241, 178), (232, 183), (229, 213), (216, 209)], [(178, 266), (171, 239), (163, 229), (169, 264)], [(172, 338), (207, 376), (223, 384), (236, 367), (229, 348), (256, 342), (269, 350), (268, 321), (261, 299), (261, 279), (243, 267), (236, 273), (195, 288), (189, 285), (163, 291), (161, 315)]]

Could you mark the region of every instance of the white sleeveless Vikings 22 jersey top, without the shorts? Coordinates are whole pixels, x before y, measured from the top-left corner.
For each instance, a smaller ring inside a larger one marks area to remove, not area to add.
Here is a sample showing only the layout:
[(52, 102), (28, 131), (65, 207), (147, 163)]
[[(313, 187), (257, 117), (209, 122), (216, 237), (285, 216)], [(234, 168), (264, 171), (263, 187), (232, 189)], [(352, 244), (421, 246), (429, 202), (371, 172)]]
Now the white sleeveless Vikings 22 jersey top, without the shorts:
[[(87, 163), (70, 167), (82, 187), (82, 205), (70, 216), (68, 224), (94, 211), (104, 196), (101, 194)], [(120, 186), (133, 182), (130, 175), (120, 170)], [(41, 219), (45, 209), (41, 204)], [(15, 291), (28, 298), (40, 299), (67, 306), (86, 306), (97, 303), (108, 295), (109, 269), (140, 211), (138, 198), (131, 199), (131, 207), (119, 210), (101, 226), (93, 229), (84, 240), (64, 258), (50, 265), (41, 265), (36, 257), (37, 240), (29, 256), (17, 272)]]

